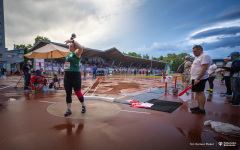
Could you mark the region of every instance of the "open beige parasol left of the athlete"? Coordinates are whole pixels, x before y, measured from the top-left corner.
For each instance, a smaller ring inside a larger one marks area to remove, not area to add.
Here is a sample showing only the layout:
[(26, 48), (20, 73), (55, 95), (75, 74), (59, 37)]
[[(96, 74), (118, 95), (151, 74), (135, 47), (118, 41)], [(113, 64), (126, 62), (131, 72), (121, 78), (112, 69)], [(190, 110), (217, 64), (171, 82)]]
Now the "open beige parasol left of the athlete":
[[(62, 58), (66, 57), (69, 53), (69, 49), (49, 43), (43, 47), (40, 47), (30, 53), (25, 54), (27, 58), (34, 59), (53, 59), (53, 58)], [(52, 62), (52, 71), (53, 71), (53, 62)]]

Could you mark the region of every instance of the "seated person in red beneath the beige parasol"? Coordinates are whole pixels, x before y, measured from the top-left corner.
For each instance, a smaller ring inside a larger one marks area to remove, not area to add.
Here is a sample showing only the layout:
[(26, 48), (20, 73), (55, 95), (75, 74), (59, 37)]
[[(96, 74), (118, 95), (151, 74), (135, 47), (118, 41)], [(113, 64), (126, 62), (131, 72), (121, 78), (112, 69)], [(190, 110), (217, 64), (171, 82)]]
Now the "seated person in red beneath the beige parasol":
[(46, 85), (46, 80), (40, 76), (33, 76), (30, 79), (30, 83), (31, 83), (32, 90), (34, 89), (34, 90), (40, 91), (43, 89), (44, 85)]

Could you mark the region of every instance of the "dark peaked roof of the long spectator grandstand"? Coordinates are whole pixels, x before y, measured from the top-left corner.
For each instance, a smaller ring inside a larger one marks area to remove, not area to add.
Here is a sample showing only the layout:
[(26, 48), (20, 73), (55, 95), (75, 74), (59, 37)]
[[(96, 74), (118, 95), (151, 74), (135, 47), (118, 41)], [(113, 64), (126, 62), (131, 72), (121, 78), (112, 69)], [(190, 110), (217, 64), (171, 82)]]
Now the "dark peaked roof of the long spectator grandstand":
[[(68, 48), (69, 45), (67, 44), (61, 44), (61, 43), (55, 43), (55, 42), (49, 42), (49, 41), (39, 41), (36, 45), (34, 45), (30, 51), (34, 51), (42, 46), (45, 46), (46, 44), (56, 44), (58, 46), (66, 47)], [(103, 59), (107, 61), (114, 61), (114, 64), (125, 64), (125, 65), (133, 65), (133, 66), (142, 66), (142, 67), (150, 67), (151, 66), (151, 60), (145, 59), (145, 58), (139, 58), (134, 56), (125, 55), (122, 52), (120, 52), (117, 48), (113, 47), (107, 50), (96, 50), (91, 48), (83, 48), (82, 58), (92, 58), (92, 57), (102, 57)], [(152, 68), (164, 68), (165, 64), (168, 64), (167, 62), (161, 62), (161, 61), (152, 61)]]

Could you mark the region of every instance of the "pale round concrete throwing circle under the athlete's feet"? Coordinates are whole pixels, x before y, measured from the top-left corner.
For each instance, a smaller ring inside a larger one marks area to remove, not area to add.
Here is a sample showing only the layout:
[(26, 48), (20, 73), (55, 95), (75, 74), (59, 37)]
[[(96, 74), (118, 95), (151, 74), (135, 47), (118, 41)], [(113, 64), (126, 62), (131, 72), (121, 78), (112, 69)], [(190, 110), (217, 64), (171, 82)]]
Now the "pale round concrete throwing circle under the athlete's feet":
[[(96, 119), (113, 116), (119, 113), (122, 108), (112, 102), (100, 101), (100, 100), (85, 100), (87, 112), (81, 113), (82, 105), (78, 100), (72, 101), (72, 114), (66, 118), (72, 119)], [(50, 105), (47, 111), (55, 116), (64, 117), (67, 110), (67, 104), (65, 101), (58, 102)]]

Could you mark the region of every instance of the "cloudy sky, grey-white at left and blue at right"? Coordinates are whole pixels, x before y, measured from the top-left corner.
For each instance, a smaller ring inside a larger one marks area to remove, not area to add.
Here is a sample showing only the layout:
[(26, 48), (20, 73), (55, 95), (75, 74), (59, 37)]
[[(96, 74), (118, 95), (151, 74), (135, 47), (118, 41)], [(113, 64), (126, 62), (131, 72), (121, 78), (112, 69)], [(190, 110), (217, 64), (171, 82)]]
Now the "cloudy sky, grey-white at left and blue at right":
[(213, 59), (240, 52), (240, 0), (4, 0), (5, 43), (39, 36), (84, 47), (148, 54), (192, 54), (199, 44)]

